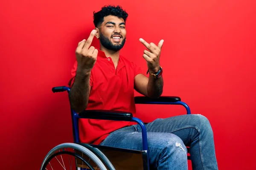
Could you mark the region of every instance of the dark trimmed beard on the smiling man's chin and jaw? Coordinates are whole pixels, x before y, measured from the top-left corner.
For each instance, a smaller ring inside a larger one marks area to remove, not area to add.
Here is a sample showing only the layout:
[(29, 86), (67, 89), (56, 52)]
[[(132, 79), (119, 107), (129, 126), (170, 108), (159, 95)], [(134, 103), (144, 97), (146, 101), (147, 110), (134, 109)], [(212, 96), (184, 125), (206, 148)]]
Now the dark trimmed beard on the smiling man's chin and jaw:
[(125, 38), (122, 40), (121, 44), (116, 44), (114, 45), (109, 39), (108, 37), (105, 37), (102, 33), (99, 34), (99, 41), (100, 43), (107, 48), (108, 50), (111, 51), (119, 51), (123, 48), (123, 46), (125, 45)]

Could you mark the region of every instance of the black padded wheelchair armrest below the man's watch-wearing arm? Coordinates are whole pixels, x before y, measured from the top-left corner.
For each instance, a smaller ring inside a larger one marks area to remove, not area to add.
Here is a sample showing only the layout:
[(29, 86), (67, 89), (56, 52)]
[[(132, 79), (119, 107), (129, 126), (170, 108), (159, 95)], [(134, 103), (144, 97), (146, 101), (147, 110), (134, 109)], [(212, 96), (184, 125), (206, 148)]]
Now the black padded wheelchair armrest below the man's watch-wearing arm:
[(177, 96), (160, 96), (157, 99), (151, 99), (146, 96), (134, 97), (135, 104), (161, 104), (166, 102), (180, 102), (180, 97)]

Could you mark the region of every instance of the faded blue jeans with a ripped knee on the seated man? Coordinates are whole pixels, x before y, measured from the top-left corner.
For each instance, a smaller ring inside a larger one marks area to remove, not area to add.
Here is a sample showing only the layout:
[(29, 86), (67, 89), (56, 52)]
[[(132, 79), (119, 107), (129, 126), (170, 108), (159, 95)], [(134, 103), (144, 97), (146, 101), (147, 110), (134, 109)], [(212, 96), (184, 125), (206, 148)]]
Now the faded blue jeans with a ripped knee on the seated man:
[[(193, 170), (218, 170), (213, 133), (205, 116), (199, 114), (156, 119), (146, 124), (151, 169), (187, 170), (187, 149)], [(112, 132), (100, 145), (143, 150), (139, 125)]]

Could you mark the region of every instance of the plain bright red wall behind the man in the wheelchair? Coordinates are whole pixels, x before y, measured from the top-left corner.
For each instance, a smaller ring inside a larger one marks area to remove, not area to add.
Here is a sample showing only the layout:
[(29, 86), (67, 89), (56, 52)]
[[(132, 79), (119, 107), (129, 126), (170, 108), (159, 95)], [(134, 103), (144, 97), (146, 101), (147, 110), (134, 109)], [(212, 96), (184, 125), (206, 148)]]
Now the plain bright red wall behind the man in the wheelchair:
[[(51, 88), (67, 85), (77, 43), (87, 39), (93, 11), (104, 2), (1, 1), (1, 169), (39, 169), (52, 147), (72, 142), (67, 94), (53, 94)], [(139, 38), (165, 40), (160, 60), (163, 95), (180, 96), (192, 113), (208, 117), (219, 169), (254, 170), (255, 1), (112, 0), (108, 4), (120, 4), (128, 11), (128, 41), (122, 54), (145, 72), (145, 48)], [(93, 43), (98, 45), (97, 40)], [(138, 112), (150, 121), (185, 110), (140, 105)]]

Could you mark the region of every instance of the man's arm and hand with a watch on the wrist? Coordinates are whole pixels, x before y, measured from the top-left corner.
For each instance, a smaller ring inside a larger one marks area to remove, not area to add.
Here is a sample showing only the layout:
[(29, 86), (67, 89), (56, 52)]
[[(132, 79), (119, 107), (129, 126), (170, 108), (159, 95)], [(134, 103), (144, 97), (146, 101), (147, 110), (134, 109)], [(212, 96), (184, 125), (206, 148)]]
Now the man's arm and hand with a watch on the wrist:
[[(145, 45), (148, 50), (144, 50), (143, 57), (147, 62), (148, 69), (151, 73), (157, 74), (160, 69), (160, 52), (163, 46), (163, 40), (161, 40), (157, 45), (154, 43), (148, 44), (143, 39), (140, 42)], [(134, 78), (135, 89), (145, 96), (150, 98), (158, 98), (163, 93), (163, 77), (154, 79), (152, 76), (146, 77), (143, 74), (138, 74)]]

